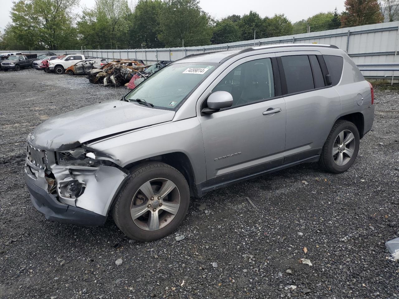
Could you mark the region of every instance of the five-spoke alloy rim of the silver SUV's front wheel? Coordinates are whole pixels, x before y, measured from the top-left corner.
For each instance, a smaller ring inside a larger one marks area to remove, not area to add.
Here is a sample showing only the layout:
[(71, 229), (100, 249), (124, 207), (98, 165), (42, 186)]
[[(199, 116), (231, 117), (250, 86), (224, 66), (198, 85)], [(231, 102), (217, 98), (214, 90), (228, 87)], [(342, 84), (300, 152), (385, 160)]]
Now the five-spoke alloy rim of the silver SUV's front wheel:
[(130, 204), (133, 222), (143, 230), (155, 231), (168, 225), (180, 207), (180, 191), (169, 179), (146, 181)]

